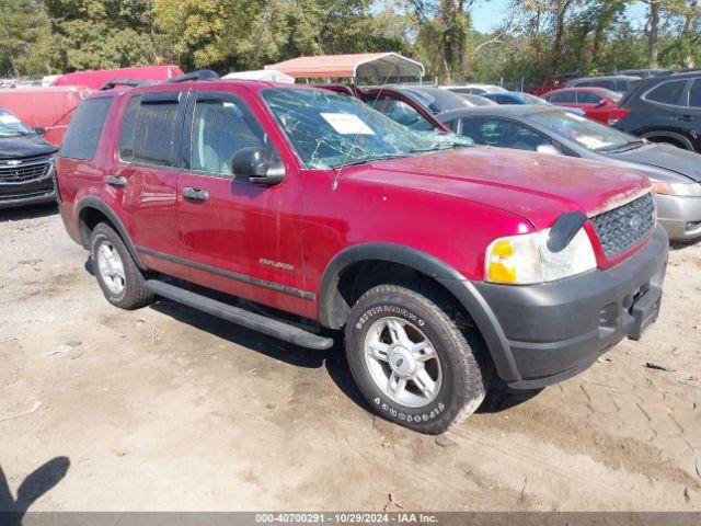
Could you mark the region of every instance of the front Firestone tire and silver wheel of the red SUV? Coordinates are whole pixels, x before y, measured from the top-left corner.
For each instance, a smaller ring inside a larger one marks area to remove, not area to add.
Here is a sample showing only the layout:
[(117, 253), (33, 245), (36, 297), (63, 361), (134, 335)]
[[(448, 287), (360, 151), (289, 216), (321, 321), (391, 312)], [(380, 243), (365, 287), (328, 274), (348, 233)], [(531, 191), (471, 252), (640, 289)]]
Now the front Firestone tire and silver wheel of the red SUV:
[(411, 430), (443, 433), (486, 396), (492, 362), (482, 336), (437, 287), (411, 282), (371, 288), (353, 306), (345, 340), (350, 371), (369, 404)]

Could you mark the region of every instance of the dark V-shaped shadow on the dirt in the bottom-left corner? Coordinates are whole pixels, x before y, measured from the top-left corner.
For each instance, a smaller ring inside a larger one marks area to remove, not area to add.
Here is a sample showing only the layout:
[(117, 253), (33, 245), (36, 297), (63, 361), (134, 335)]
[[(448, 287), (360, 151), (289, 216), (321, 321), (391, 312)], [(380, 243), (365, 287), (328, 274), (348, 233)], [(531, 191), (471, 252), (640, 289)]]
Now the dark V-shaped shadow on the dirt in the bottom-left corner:
[(32, 471), (18, 488), (18, 498), (10, 492), (10, 484), (0, 467), (0, 524), (19, 526), (34, 502), (58, 484), (70, 467), (68, 457), (56, 457)]

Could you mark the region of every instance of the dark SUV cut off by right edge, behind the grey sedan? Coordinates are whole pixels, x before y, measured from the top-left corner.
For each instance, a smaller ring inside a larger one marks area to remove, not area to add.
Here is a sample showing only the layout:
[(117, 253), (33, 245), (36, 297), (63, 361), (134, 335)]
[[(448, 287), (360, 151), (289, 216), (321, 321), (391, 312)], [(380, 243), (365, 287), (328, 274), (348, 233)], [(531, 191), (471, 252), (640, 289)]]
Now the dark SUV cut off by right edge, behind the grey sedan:
[(701, 70), (648, 77), (619, 102), (616, 127), (654, 142), (701, 152)]

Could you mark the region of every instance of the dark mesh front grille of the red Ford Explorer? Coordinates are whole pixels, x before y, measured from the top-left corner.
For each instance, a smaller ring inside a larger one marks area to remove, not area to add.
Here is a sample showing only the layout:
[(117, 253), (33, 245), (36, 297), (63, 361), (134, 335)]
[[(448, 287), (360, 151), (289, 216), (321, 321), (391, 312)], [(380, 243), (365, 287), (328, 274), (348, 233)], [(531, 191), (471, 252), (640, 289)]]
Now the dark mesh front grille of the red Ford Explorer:
[(641, 241), (655, 226), (653, 194), (591, 218), (607, 258), (614, 258)]

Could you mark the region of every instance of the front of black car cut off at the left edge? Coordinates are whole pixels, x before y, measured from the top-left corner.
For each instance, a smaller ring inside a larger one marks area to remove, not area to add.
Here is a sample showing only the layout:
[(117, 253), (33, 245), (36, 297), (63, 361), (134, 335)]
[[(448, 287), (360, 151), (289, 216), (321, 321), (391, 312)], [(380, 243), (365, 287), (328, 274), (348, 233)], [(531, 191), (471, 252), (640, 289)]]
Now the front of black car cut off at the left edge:
[(54, 202), (56, 152), (38, 130), (0, 108), (0, 208)]

